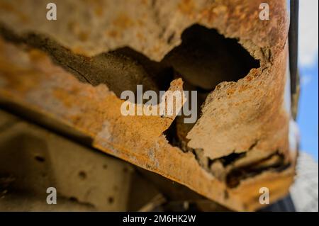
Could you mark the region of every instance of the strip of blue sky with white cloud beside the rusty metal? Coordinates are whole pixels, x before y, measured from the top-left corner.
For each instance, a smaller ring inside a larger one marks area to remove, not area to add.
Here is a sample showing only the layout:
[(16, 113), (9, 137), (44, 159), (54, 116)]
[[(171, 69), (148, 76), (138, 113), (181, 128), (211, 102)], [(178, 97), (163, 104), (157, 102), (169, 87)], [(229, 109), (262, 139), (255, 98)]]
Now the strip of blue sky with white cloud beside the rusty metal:
[(301, 96), (297, 123), (301, 150), (318, 162), (318, 0), (300, 1), (298, 38)]

